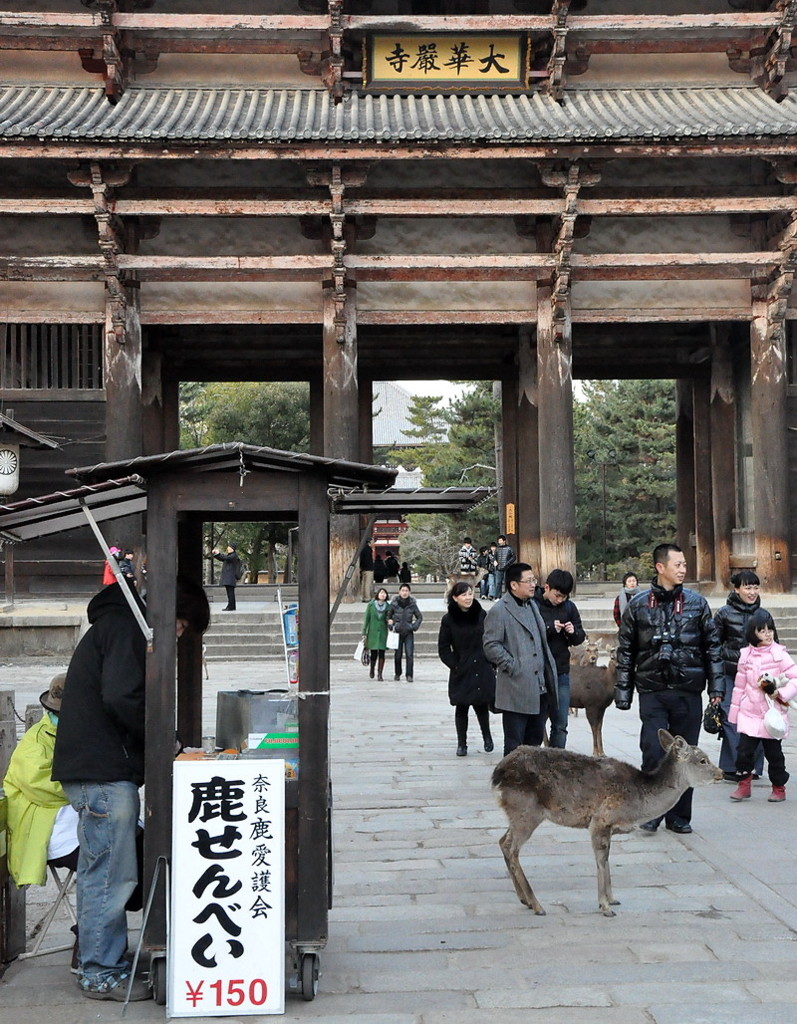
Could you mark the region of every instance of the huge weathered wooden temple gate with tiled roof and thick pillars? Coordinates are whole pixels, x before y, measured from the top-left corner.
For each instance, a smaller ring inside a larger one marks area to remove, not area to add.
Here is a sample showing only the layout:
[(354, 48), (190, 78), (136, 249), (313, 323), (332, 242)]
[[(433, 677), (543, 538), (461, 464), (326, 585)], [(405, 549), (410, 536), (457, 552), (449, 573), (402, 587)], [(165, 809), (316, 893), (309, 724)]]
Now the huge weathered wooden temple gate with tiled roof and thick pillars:
[[(0, 399), (89, 424), (19, 497), (97, 433), (176, 449), (183, 380), (309, 381), (312, 452), (363, 462), (373, 381), (494, 380), (504, 525), (545, 572), (576, 561), (574, 375), (676, 379), (691, 571), (791, 589), (797, 4), (170, 6), (0, 10)], [(476, 40), (517, 42), (522, 87), (395, 80)], [(34, 381), (56, 325), (76, 365), (102, 328), (100, 388)]]

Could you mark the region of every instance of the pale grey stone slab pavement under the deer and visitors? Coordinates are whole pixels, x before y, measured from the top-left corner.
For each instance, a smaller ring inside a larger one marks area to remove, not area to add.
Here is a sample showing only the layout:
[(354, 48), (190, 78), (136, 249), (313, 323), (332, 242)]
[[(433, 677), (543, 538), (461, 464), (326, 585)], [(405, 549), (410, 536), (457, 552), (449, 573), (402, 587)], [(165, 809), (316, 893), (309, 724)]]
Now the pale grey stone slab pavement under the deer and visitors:
[[(60, 666), (0, 666), (17, 707)], [(205, 732), (218, 689), (282, 682), (279, 665), (210, 667)], [(793, 1024), (797, 1020), (797, 786), (731, 804), (730, 786), (698, 791), (691, 836), (618, 836), (618, 915), (597, 910), (585, 831), (543, 824), (522, 861), (547, 909), (517, 901), (498, 848), (490, 790), (500, 759), (472, 731), (456, 758), (446, 670), (420, 663), (415, 682), (378, 684), (353, 662), (332, 664), (335, 891), (314, 1001), (287, 999), (285, 1020), (325, 1024)], [(583, 713), (570, 745), (591, 750)], [(610, 710), (604, 743), (638, 764), (635, 711)], [(797, 734), (796, 734), (797, 735)], [(718, 744), (704, 749), (716, 759)], [(787, 740), (797, 771), (797, 742)], [(32, 890), (33, 903), (41, 891)], [(33, 915), (31, 915), (33, 916)], [(66, 931), (66, 927), (65, 927)], [(122, 1020), (78, 992), (67, 953), (15, 963), (0, 981), (0, 1024)], [(131, 1004), (130, 1024), (164, 1019)], [(195, 1018), (205, 1021), (210, 1018)], [(252, 1018), (248, 1018), (252, 1019)], [(229, 1017), (230, 1021), (245, 1018)]]

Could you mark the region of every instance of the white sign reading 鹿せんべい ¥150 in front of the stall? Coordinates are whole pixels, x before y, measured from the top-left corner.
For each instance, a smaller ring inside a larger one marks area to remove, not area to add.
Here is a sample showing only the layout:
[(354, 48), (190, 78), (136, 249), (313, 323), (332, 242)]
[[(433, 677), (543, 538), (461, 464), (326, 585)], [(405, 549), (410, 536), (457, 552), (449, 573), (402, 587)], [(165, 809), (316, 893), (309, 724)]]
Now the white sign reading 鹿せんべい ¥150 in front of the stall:
[(168, 1006), (285, 1010), (285, 763), (174, 765)]

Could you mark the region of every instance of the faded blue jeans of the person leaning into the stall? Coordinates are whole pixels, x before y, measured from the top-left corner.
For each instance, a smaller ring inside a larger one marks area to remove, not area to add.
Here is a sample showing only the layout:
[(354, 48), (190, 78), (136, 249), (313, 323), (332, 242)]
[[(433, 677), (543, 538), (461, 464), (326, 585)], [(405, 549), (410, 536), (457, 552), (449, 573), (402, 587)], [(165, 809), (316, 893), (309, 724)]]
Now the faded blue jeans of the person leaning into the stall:
[(129, 965), (125, 904), (136, 886), (134, 782), (64, 782), (80, 815), (78, 824), (78, 931), (80, 978), (95, 988), (118, 979)]

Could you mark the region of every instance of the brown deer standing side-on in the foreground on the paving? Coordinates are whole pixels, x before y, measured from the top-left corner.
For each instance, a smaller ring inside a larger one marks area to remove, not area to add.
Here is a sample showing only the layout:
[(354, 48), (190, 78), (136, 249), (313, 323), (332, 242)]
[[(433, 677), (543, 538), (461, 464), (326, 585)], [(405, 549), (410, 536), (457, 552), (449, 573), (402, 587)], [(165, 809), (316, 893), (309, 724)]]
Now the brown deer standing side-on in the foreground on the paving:
[(722, 772), (681, 736), (659, 730), (664, 758), (652, 772), (614, 758), (594, 758), (551, 746), (518, 746), (493, 772), (493, 787), (509, 827), (499, 840), (521, 903), (544, 914), (520, 867), (519, 854), (535, 828), (553, 821), (588, 828), (597, 864), (598, 905), (606, 918), (620, 901), (612, 895), (609, 851), (613, 833), (664, 814), (689, 786), (718, 782)]

